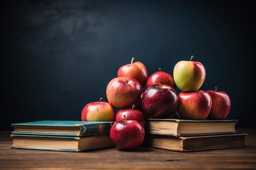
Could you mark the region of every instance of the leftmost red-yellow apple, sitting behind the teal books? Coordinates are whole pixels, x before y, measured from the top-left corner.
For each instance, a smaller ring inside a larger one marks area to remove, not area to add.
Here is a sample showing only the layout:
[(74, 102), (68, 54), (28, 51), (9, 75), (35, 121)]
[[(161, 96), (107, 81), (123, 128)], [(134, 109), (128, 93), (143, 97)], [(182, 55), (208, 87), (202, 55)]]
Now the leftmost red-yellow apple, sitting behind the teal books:
[(83, 107), (82, 121), (115, 121), (115, 109), (108, 102), (90, 102)]

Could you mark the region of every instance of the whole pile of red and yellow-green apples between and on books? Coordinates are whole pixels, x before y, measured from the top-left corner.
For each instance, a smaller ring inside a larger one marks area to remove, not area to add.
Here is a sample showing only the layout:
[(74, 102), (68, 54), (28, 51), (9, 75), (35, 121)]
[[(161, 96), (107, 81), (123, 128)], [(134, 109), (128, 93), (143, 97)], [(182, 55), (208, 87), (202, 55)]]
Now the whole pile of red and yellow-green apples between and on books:
[[(145, 118), (164, 119), (178, 115), (181, 119), (222, 120), (231, 108), (231, 99), (223, 91), (199, 90), (206, 70), (202, 63), (182, 60), (173, 75), (159, 71), (148, 77), (141, 62), (123, 65), (117, 77), (106, 87), (108, 102), (90, 102), (81, 113), (82, 121), (115, 121), (110, 137), (118, 150), (135, 150), (145, 137)], [(144, 92), (142, 89), (145, 87)], [(175, 88), (180, 89), (177, 94)], [(120, 110), (115, 113), (115, 109)]]

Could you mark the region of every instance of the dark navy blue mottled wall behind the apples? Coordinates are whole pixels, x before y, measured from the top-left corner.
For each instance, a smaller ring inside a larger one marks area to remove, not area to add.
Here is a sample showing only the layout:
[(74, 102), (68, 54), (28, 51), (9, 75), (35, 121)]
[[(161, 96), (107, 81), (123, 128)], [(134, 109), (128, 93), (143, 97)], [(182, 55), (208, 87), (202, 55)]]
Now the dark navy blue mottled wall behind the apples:
[[(255, 126), (255, 6), (233, 0), (12, 0), (0, 5), (1, 130), (81, 120), (131, 57), (148, 75), (201, 62), (201, 90), (231, 97), (226, 119)], [(180, 93), (176, 89), (177, 93)]]

